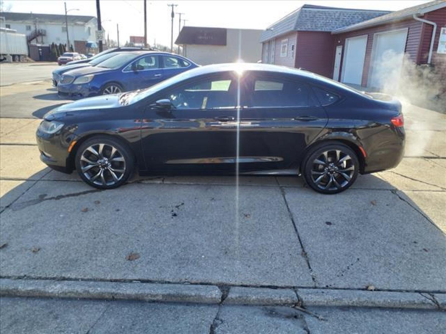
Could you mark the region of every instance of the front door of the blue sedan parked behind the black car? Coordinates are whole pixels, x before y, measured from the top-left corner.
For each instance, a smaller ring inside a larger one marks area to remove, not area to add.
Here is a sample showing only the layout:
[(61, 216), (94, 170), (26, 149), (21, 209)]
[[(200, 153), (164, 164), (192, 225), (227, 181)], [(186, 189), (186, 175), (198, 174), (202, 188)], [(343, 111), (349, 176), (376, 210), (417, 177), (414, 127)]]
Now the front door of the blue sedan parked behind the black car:
[(137, 58), (122, 72), (127, 90), (144, 89), (164, 80), (160, 57), (157, 54)]

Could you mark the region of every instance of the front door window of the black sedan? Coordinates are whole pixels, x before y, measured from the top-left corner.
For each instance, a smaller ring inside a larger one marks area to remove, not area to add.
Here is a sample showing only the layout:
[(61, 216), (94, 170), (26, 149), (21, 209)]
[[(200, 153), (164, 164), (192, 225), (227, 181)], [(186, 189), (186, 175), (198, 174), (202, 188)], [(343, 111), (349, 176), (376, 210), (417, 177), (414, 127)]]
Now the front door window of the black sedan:
[(235, 108), (237, 93), (233, 79), (204, 79), (167, 94), (176, 109)]

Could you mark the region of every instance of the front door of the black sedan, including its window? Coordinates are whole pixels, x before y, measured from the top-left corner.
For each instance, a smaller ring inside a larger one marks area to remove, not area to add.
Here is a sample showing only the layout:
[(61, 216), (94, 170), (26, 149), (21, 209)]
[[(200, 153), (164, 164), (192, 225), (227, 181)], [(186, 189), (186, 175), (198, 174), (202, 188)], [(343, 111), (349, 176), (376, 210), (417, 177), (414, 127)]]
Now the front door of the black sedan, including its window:
[[(171, 107), (159, 109), (160, 99)], [(202, 77), (153, 97), (141, 129), (148, 170), (234, 170), (236, 104), (233, 73)]]

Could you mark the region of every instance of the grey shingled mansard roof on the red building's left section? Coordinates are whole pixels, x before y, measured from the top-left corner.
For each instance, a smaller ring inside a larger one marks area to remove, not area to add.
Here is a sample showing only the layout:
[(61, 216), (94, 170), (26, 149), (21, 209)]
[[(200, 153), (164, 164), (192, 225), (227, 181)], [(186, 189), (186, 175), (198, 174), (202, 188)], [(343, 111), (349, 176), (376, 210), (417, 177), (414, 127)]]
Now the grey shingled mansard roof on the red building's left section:
[(260, 42), (292, 31), (333, 31), (351, 24), (390, 13), (382, 10), (351, 9), (304, 4), (281, 20), (270, 25)]

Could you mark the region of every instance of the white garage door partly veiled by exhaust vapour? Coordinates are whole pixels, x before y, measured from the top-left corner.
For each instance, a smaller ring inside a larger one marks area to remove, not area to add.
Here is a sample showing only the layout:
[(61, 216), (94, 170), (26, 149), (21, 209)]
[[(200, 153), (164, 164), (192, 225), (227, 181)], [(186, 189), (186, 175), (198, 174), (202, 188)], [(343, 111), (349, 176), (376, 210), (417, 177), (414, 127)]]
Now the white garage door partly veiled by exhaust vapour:
[(382, 88), (387, 82), (395, 84), (401, 73), (406, 39), (407, 29), (375, 34), (368, 86)]

